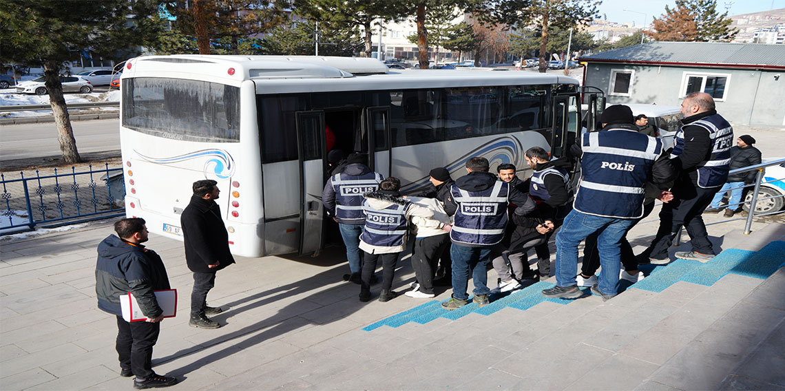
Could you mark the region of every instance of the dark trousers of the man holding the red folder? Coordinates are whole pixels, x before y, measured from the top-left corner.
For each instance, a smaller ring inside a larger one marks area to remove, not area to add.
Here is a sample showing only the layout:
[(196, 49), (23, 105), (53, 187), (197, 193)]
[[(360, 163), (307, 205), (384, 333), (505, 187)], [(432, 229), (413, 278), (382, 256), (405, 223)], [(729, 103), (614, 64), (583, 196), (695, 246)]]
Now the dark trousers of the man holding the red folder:
[(130, 369), (137, 378), (149, 378), (152, 371), (152, 347), (158, 341), (161, 323), (126, 322), (117, 316), (117, 354), (121, 369)]

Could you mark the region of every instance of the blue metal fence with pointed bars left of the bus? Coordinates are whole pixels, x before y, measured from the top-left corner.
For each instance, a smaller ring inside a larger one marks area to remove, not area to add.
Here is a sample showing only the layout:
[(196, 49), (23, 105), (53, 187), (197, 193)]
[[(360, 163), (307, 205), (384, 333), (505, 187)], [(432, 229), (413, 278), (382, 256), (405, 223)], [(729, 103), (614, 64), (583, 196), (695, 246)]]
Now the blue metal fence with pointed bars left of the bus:
[(0, 173), (0, 236), (125, 215), (122, 167), (109, 163), (87, 171), (77, 168), (35, 170), (35, 174)]

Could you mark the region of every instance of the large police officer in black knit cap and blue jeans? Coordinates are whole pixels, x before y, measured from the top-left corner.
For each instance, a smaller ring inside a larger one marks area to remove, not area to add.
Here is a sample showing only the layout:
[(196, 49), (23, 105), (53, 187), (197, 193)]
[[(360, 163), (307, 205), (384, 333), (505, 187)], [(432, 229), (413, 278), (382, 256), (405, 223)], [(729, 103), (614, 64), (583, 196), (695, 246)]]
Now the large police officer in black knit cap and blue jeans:
[(638, 133), (633, 121), (629, 107), (610, 106), (601, 116), (603, 129), (584, 134), (576, 146), (582, 151), (582, 178), (573, 209), (556, 236), (557, 285), (542, 291), (546, 297), (582, 296), (575, 281), (578, 245), (593, 232), (600, 232), (597, 246), (602, 270), (591, 289), (603, 300), (619, 289), (619, 242), (643, 215), (646, 181), (663, 152), (662, 141)]

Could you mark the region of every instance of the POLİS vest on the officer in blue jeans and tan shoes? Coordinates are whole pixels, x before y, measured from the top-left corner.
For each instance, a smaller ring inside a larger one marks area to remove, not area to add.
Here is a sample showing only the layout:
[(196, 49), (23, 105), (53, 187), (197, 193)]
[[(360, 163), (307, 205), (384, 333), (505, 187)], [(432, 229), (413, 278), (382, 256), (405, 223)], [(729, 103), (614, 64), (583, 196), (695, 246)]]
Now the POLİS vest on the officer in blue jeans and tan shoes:
[(507, 182), (496, 181), (482, 192), (467, 192), (452, 185), (450, 192), (458, 204), (450, 231), (453, 242), (491, 246), (502, 241), (507, 224)]

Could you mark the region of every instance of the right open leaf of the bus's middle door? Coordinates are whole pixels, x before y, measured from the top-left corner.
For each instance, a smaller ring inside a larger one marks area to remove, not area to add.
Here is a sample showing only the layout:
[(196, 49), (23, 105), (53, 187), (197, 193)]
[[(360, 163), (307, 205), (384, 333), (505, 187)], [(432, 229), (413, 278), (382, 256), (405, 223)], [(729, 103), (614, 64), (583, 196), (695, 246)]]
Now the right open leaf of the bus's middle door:
[(392, 175), (392, 136), (389, 106), (363, 109), (363, 126), (368, 135), (368, 167), (384, 177)]

